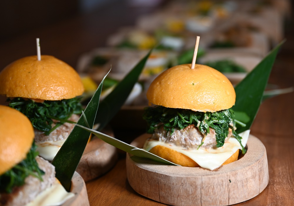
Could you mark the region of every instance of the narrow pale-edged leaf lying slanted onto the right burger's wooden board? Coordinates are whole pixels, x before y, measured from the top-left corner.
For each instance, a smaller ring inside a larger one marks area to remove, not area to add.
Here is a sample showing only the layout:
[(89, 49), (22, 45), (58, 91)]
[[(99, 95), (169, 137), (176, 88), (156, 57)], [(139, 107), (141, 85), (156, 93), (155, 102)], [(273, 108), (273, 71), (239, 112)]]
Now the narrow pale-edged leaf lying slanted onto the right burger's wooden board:
[(121, 150), (123, 150), (125, 152), (128, 152), (130, 154), (133, 154), (135, 156), (149, 158), (149, 159), (152, 159), (154, 161), (157, 161), (157, 162), (160, 162), (160, 163), (163, 163), (163, 164), (179, 166), (178, 164), (167, 161), (166, 159), (163, 159), (163, 158), (161, 158), (159, 156), (156, 156), (155, 154), (152, 154), (152, 153), (150, 153), (150, 152), (148, 152), (148, 151), (146, 151), (144, 149), (134, 147), (134, 146), (132, 146), (130, 144), (127, 144), (125, 142), (122, 142), (121, 140), (118, 140), (118, 139), (116, 139), (114, 137), (105, 135), (102, 132), (98, 132), (96, 130), (89, 129), (87, 127), (84, 127), (84, 126), (78, 125), (78, 124), (76, 126), (81, 127), (82, 129), (93, 133), (94, 135), (96, 135), (98, 138), (100, 138), (104, 142), (106, 142), (108, 144), (111, 144), (112, 146), (114, 146), (114, 147), (116, 147), (118, 149), (121, 149)]

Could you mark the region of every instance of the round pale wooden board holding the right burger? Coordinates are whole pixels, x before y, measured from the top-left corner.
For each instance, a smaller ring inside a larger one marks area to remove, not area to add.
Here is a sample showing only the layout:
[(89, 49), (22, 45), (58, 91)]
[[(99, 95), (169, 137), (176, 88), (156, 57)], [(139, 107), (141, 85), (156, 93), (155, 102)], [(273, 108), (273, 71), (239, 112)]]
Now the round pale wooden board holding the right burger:
[[(144, 134), (131, 144), (142, 148)], [(233, 205), (254, 198), (268, 185), (268, 160), (262, 142), (249, 136), (248, 151), (239, 160), (211, 171), (169, 166), (127, 153), (126, 170), (139, 194), (169, 205)]]

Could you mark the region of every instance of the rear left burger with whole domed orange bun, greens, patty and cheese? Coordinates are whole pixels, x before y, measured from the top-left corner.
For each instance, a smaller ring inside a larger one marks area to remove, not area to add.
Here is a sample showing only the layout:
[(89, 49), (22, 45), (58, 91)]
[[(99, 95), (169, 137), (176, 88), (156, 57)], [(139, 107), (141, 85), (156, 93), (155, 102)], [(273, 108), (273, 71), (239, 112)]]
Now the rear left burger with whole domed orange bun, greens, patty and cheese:
[(34, 126), (40, 156), (52, 161), (74, 128), (84, 91), (78, 73), (53, 56), (29, 56), (12, 62), (0, 73), (0, 94), (9, 106), (26, 115)]

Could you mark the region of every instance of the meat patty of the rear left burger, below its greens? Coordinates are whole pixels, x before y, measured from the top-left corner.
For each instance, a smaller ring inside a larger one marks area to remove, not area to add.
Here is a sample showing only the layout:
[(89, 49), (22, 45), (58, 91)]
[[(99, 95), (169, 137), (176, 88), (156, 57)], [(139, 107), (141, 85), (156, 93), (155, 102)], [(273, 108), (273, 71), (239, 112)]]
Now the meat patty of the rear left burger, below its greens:
[[(73, 122), (77, 122), (80, 118), (79, 115), (71, 115), (68, 119)], [(52, 128), (56, 125), (56, 120), (52, 124)], [(64, 124), (57, 127), (54, 131), (52, 131), (49, 135), (45, 135), (45, 132), (35, 129), (35, 141), (36, 143), (46, 142), (46, 141), (58, 141), (62, 139), (66, 139), (69, 136), (71, 130), (74, 129), (74, 124), (65, 122)]]

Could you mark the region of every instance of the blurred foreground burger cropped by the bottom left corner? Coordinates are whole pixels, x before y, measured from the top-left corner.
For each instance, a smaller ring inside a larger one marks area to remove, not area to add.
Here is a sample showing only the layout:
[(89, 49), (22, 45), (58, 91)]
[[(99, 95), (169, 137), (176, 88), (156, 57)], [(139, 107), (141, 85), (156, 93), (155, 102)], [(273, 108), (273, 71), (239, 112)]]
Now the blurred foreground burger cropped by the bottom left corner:
[(4, 105), (0, 105), (0, 142), (1, 206), (61, 205), (74, 196), (55, 178), (54, 166), (37, 156), (30, 120)]

